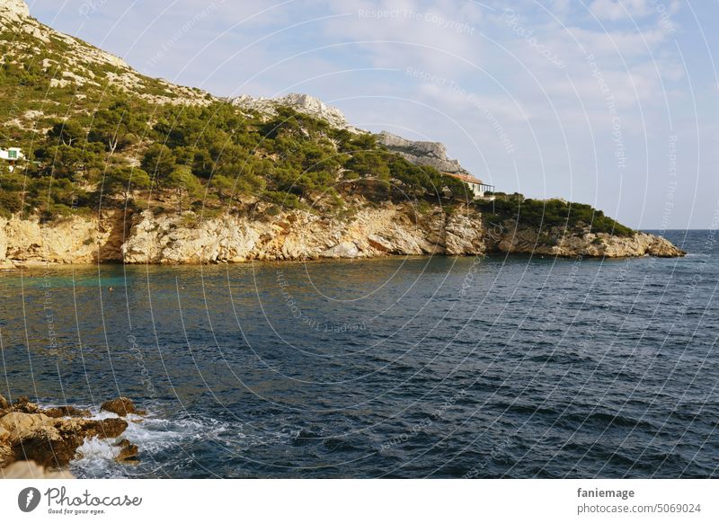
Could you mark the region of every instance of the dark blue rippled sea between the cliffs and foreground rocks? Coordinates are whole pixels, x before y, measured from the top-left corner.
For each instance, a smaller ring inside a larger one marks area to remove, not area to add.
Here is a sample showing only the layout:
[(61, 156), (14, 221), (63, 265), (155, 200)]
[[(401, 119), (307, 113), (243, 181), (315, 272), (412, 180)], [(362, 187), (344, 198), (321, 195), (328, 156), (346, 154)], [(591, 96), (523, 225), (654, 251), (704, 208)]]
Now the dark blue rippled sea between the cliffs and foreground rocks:
[(7, 271), (0, 393), (147, 410), (140, 464), (90, 441), (81, 477), (716, 477), (715, 235), (667, 232), (682, 259)]

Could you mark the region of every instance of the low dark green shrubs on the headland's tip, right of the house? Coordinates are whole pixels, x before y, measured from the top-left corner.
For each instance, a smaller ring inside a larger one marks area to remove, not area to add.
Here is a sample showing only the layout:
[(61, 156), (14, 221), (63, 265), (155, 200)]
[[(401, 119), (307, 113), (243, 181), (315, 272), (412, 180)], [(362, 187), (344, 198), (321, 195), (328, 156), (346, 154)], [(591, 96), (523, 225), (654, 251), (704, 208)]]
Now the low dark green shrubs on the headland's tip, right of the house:
[[(529, 199), (519, 193), (494, 193), (494, 201), (478, 201), (476, 207), (482, 211), (488, 222), (501, 224), (516, 220), (519, 225), (546, 230), (562, 226), (569, 230), (590, 227), (593, 233), (609, 233), (617, 236), (631, 236), (635, 232), (604, 213), (585, 203), (571, 203), (561, 199)], [(547, 242), (551, 240), (546, 239)], [(600, 241), (600, 240), (599, 240)]]

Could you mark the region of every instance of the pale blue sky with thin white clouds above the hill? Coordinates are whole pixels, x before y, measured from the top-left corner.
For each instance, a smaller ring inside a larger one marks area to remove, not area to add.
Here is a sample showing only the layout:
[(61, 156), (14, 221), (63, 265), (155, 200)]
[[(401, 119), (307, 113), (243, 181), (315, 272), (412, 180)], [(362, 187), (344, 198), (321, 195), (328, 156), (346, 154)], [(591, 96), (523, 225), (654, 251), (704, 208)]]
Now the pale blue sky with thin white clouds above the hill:
[(719, 226), (717, 0), (27, 3), (146, 75), (441, 141), (497, 191)]

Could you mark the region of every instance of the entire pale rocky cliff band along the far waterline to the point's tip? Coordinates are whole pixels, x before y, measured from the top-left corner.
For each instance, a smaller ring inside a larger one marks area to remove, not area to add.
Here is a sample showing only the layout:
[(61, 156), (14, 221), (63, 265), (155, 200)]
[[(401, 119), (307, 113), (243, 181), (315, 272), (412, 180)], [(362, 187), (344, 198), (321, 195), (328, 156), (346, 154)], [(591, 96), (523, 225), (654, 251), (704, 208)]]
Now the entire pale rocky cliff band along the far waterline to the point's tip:
[(589, 227), (546, 231), (484, 224), (473, 209), (434, 207), (418, 213), (410, 204), (358, 207), (350, 217), (308, 211), (276, 216), (240, 212), (204, 218), (120, 211), (69, 217), (54, 224), (0, 218), (0, 268), (97, 262), (200, 264), (308, 261), (389, 255), (525, 253), (563, 257), (678, 257), (668, 240), (645, 233), (617, 236)]

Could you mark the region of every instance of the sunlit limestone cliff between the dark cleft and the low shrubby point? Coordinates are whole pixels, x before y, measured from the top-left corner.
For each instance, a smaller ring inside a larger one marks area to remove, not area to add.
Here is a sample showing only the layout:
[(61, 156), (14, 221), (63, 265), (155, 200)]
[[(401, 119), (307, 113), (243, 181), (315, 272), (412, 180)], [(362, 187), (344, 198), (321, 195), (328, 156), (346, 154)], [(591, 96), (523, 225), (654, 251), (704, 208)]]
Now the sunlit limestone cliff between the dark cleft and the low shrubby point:
[(482, 249), (476, 213), (448, 218), (435, 209), (419, 220), (410, 216), (407, 206), (393, 203), (360, 208), (344, 220), (291, 211), (271, 219), (225, 216), (198, 223), (191, 214), (155, 217), (146, 211), (122, 253), (128, 263), (217, 263), (445, 253), (445, 245), (450, 254)]

